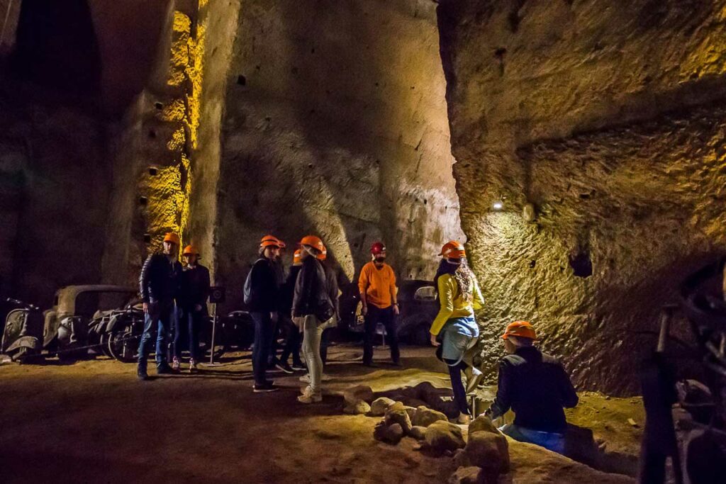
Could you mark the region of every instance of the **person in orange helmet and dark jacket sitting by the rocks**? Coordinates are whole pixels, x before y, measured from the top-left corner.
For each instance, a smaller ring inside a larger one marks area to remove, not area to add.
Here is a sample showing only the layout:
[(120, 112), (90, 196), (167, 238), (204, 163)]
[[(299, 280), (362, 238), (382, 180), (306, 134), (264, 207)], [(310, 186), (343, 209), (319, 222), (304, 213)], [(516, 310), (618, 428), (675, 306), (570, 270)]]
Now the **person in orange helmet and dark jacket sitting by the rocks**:
[(510, 408), (513, 424), (499, 430), (520, 442), (529, 442), (562, 454), (567, 427), (563, 407), (577, 405), (578, 397), (559, 361), (534, 347), (534, 328), (515, 321), (504, 335), (507, 356), (499, 362), (497, 397), (486, 417), (497, 419)]

